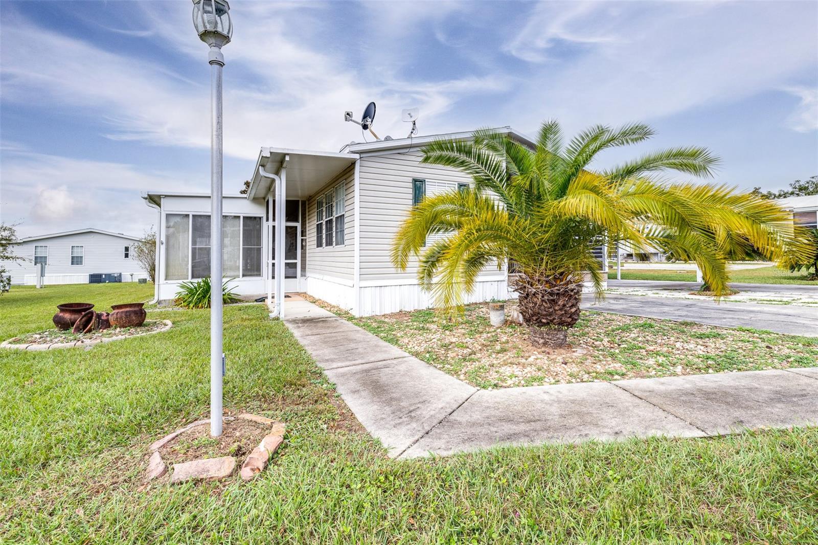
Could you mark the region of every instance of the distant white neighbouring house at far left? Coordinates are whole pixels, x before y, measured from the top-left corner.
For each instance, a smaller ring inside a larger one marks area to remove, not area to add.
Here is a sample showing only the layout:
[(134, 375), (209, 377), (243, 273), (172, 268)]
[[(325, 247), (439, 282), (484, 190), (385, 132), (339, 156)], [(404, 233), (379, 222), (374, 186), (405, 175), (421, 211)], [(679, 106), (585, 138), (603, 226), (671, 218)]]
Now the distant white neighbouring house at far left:
[(25, 261), (7, 262), (11, 284), (36, 284), (39, 263), (45, 263), (44, 284), (87, 284), (90, 274), (122, 275), (122, 282), (147, 278), (133, 259), (137, 236), (101, 229), (79, 229), (20, 239), (14, 253)]

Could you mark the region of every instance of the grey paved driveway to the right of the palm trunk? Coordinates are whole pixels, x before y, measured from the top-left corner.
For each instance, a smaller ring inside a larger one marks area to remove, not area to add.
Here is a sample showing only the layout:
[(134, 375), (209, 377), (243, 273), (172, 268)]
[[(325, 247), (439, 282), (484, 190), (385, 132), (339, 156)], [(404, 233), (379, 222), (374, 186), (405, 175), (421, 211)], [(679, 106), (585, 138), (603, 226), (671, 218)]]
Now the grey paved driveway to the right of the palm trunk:
[(645, 318), (698, 322), (721, 327), (753, 327), (790, 335), (818, 337), (818, 308), (814, 307), (732, 303), (725, 300), (717, 303), (706, 298), (693, 300), (607, 294), (605, 300), (599, 303), (588, 296), (582, 302), (582, 308)]

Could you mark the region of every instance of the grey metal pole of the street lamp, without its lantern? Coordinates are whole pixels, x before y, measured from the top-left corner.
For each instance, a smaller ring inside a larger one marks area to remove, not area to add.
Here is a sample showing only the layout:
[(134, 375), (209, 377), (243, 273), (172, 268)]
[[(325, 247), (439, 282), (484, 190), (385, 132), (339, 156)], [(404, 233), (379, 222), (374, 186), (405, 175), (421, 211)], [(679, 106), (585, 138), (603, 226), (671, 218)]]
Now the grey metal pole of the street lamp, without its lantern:
[(222, 66), (210, 47), (210, 435), (222, 435)]

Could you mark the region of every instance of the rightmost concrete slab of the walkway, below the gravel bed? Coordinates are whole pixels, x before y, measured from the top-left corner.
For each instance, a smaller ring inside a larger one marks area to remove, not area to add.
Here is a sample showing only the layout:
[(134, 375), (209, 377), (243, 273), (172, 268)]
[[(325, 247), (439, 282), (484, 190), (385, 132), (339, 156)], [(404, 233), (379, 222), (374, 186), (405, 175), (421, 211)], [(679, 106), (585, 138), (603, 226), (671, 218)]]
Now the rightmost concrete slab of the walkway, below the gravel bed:
[(795, 372), (667, 376), (616, 384), (710, 435), (818, 422), (816, 380)]

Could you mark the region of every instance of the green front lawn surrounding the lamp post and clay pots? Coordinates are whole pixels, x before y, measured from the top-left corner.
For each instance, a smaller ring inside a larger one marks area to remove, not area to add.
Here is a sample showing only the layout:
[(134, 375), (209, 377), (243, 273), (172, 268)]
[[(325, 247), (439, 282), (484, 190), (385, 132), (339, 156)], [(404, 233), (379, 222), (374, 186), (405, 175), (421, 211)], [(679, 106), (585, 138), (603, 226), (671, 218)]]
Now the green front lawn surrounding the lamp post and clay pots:
[[(55, 301), (150, 296), (132, 288), (3, 295), (4, 335), (49, 327)], [(286, 421), (285, 444), (249, 484), (141, 490), (147, 444), (209, 396), (208, 312), (151, 318), (174, 327), (0, 352), (0, 543), (818, 541), (816, 428), (398, 462), (262, 305), (225, 309), (225, 408)]]

